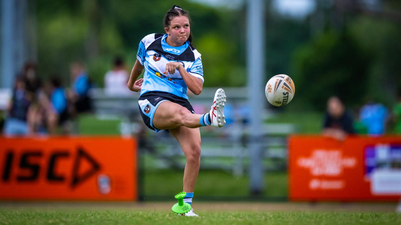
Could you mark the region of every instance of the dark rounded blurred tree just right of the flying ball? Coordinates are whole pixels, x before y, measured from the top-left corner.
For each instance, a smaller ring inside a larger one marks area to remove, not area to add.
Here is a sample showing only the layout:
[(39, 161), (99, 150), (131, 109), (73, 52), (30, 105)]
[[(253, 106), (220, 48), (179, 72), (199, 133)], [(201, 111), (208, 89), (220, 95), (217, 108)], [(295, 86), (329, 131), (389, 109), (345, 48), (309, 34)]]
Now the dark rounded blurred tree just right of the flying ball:
[(369, 55), (348, 34), (325, 32), (294, 53), (297, 97), (319, 109), (332, 95), (348, 105), (362, 102), (369, 63)]

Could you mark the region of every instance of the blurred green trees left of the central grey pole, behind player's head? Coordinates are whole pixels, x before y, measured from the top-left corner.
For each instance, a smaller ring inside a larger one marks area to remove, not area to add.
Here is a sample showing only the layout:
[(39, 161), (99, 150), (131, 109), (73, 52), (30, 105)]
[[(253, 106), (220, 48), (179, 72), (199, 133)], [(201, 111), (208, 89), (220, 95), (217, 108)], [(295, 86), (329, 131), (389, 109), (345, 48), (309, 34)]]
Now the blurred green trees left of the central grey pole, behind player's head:
[[(201, 4), (174, 2), (191, 16), (194, 44), (202, 54), (205, 86), (245, 84), (244, 57), (238, 57), (241, 26), (232, 10)], [(58, 73), (69, 82), (69, 64), (86, 64), (98, 86), (111, 68), (112, 58), (122, 55), (130, 71), (140, 40), (151, 33), (164, 33), (163, 19), (172, 7), (168, 1), (36, 1), (38, 62), (41, 76)], [(230, 38), (227, 38), (229, 36)]]

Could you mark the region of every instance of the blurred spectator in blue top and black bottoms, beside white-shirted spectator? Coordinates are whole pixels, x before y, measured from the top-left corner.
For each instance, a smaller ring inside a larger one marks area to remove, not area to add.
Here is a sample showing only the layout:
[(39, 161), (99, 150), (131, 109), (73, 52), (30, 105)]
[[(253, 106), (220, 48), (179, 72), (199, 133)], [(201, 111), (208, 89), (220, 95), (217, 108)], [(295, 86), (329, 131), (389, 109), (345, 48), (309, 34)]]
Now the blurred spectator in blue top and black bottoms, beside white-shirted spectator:
[(91, 110), (91, 99), (89, 89), (91, 87), (89, 78), (84, 70), (83, 64), (73, 62), (70, 66), (72, 87), (69, 92), (69, 100), (75, 106), (74, 112), (88, 112)]

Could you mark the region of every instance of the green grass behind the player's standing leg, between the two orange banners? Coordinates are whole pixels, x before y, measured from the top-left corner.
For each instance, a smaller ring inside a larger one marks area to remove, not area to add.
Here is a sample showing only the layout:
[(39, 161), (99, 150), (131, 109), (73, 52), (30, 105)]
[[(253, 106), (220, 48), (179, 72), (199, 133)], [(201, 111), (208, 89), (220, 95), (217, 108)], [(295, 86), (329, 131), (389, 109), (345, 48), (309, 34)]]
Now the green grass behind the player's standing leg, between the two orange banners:
[[(184, 170), (145, 170), (143, 174), (143, 195), (145, 200), (160, 200), (172, 197), (182, 190)], [(287, 173), (268, 172), (264, 176), (263, 193), (260, 200), (286, 200)], [(235, 176), (222, 170), (199, 171), (196, 180), (195, 198), (212, 201), (217, 199), (233, 199), (249, 197), (249, 177)]]

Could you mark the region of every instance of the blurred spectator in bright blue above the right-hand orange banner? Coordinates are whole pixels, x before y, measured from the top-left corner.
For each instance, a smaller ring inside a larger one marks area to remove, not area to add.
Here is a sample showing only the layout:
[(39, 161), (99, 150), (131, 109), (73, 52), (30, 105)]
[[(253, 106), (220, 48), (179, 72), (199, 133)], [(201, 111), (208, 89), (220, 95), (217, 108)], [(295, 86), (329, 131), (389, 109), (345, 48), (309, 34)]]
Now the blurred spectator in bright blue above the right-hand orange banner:
[(369, 101), (360, 109), (359, 119), (367, 127), (369, 135), (383, 135), (386, 131), (385, 124), (389, 119), (389, 112), (383, 104)]

